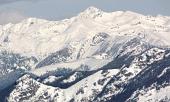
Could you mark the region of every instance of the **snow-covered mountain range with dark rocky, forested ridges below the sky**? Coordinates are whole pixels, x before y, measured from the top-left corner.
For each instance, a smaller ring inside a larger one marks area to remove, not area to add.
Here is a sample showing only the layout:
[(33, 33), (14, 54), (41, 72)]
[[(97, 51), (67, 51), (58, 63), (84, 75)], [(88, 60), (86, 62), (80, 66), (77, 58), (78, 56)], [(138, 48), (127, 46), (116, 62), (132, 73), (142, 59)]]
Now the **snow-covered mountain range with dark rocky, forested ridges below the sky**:
[(170, 101), (170, 17), (90, 7), (0, 26), (0, 101)]

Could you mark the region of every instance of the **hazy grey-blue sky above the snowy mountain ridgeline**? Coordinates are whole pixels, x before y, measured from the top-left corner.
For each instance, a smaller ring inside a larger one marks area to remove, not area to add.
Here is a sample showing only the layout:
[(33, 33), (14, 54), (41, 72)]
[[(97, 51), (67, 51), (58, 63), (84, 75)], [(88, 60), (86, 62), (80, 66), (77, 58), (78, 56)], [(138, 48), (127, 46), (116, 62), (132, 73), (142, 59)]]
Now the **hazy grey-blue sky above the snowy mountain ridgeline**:
[(0, 0), (0, 24), (18, 22), (26, 17), (70, 18), (89, 6), (107, 12), (129, 10), (145, 15), (170, 16), (170, 0)]

